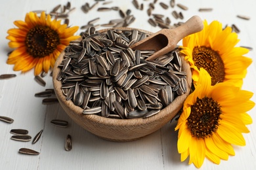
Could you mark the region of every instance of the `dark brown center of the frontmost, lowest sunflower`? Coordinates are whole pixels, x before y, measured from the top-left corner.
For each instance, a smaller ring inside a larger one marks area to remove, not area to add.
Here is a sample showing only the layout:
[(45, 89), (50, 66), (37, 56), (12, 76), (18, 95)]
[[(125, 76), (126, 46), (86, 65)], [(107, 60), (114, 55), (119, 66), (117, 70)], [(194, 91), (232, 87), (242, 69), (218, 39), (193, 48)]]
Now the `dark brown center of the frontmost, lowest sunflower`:
[(210, 137), (218, 129), (221, 113), (219, 103), (211, 97), (197, 98), (196, 103), (191, 106), (190, 116), (186, 122), (192, 137)]

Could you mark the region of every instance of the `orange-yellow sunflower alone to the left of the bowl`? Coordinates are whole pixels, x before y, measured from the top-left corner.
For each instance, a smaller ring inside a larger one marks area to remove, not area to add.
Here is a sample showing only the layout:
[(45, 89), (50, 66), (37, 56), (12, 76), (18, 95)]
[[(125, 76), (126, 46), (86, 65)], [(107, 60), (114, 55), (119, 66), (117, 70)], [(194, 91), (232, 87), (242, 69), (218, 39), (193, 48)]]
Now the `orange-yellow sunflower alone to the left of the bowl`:
[(79, 38), (74, 36), (79, 27), (67, 27), (60, 22), (51, 20), (51, 16), (46, 16), (45, 12), (41, 16), (29, 12), (25, 21), (14, 22), (18, 28), (7, 31), (9, 46), (16, 48), (7, 59), (8, 64), (14, 64), (14, 71), (26, 72), (34, 67), (34, 74), (39, 75), (54, 67), (60, 52), (70, 41)]

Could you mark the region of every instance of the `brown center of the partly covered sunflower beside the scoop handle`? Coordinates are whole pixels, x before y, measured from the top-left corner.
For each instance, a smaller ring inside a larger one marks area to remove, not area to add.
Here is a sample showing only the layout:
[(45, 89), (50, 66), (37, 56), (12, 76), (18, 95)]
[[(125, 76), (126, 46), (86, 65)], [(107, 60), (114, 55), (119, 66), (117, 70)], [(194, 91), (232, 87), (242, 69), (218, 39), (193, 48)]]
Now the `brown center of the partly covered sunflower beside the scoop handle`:
[(210, 47), (196, 46), (192, 56), (196, 67), (205, 69), (211, 75), (211, 85), (224, 81), (224, 63), (218, 52)]

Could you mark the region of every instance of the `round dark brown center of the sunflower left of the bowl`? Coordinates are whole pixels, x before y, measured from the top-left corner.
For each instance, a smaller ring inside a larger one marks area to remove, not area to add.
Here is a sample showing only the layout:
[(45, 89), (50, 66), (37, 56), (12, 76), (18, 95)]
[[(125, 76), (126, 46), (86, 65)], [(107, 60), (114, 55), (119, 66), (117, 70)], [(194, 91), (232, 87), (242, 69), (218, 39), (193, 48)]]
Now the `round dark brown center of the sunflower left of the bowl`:
[(51, 27), (37, 25), (26, 36), (27, 52), (34, 58), (43, 58), (53, 53), (60, 44), (58, 33)]

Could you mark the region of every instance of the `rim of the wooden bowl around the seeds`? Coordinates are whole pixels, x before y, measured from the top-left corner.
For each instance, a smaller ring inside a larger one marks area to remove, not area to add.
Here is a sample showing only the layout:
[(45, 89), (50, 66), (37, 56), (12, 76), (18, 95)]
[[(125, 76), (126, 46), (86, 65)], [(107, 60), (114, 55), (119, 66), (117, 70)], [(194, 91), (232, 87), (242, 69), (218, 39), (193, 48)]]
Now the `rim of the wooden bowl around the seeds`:
[[(121, 30), (137, 29), (138, 31), (143, 31), (144, 33), (152, 34), (152, 32), (150, 31), (133, 28), (133, 27), (112, 27), (109, 29), (121, 29)], [(100, 33), (102, 33), (104, 31), (108, 31), (109, 29), (100, 29), (99, 31)], [(60, 73), (60, 68), (58, 68), (58, 65), (61, 63), (64, 57), (64, 54), (65, 52), (62, 51), (60, 56), (56, 59), (56, 62), (53, 68), (53, 86), (54, 86), (54, 91), (56, 93), (56, 97), (58, 98), (60, 105), (62, 105), (62, 107), (67, 107), (70, 111), (74, 113), (75, 116), (79, 116), (81, 119), (86, 119), (89, 121), (96, 122), (97, 124), (108, 125), (108, 126), (143, 126), (146, 124), (152, 124), (153, 122), (159, 119), (174, 118), (177, 115), (177, 112), (182, 108), (182, 105), (186, 97), (190, 93), (190, 87), (192, 83), (192, 78), (191, 78), (192, 73), (191, 73), (188, 62), (184, 61), (184, 56), (182, 56), (182, 71), (186, 71), (187, 92), (177, 96), (171, 104), (169, 104), (164, 109), (161, 109), (160, 112), (158, 112), (158, 114), (155, 114), (148, 118), (133, 118), (133, 119), (105, 118), (103, 116), (98, 116), (96, 114), (83, 114), (82, 113), (83, 109), (81, 107), (74, 105), (74, 103), (71, 100), (66, 101), (66, 97), (64, 96), (61, 90), (62, 83), (59, 80), (57, 80), (57, 76)], [(184, 65), (186, 67), (184, 67)], [(69, 116), (72, 118), (70, 114)]]

